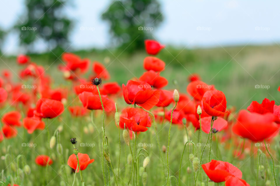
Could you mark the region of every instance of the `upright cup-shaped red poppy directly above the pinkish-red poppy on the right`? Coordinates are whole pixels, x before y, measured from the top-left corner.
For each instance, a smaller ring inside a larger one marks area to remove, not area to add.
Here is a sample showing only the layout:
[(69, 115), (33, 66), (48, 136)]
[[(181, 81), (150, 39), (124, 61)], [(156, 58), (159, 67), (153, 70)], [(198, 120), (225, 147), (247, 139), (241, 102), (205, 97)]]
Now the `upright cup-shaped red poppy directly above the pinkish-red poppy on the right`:
[(225, 94), (220, 90), (209, 90), (202, 97), (202, 107), (210, 116), (221, 116), (227, 108)]

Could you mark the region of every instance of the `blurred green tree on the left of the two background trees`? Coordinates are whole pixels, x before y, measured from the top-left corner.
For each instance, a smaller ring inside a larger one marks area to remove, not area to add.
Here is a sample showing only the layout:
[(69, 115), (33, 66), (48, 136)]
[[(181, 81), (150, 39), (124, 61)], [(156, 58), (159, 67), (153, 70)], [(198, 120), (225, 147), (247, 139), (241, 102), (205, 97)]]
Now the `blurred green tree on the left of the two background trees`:
[(55, 55), (60, 55), (69, 45), (72, 22), (65, 15), (66, 0), (26, 0), (27, 11), (15, 28), (20, 32), (20, 44), (28, 52), (34, 51), (36, 42), (43, 42)]

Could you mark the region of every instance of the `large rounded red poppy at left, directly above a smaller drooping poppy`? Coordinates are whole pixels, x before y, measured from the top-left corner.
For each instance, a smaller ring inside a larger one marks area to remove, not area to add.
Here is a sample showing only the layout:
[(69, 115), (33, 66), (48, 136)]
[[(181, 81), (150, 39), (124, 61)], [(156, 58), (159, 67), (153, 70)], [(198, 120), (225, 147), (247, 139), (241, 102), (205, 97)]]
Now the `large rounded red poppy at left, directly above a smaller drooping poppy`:
[(64, 106), (60, 101), (54, 99), (39, 99), (36, 103), (36, 112), (43, 118), (54, 118), (64, 111)]

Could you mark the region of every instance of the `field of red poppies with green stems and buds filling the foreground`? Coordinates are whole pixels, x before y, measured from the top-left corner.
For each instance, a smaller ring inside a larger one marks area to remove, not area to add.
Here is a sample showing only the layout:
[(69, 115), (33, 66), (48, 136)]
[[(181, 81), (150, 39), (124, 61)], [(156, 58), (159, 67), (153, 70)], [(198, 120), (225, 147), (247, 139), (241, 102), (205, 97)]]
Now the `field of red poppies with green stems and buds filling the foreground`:
[(0, 185), (280, 185), (280, 105), (258, 92), (272, 87), (254, 85), (262, 99), (237, 109), (228, 100), (242, 92), (172, 69), (164, 45), (143, 42), (129, 80), (75, 53), (51, 64), (58, 76), (27, 55), (1, 69)]

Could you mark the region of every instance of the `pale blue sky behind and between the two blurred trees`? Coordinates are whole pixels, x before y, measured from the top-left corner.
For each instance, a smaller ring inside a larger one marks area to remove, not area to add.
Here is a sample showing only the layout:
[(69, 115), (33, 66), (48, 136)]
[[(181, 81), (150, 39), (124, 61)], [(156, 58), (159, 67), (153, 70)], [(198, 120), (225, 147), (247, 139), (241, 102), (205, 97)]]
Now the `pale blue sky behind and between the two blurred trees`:
[[(152, 34), (162, 44), (183, 48), (280, 42), (280, 1), (271, 0), (159, 0), (164, 21)], [(110, 46), (109, 25), (101, 14), (113, 0), (71, 0), (65, 14), (75, 21), (70, 42), (74, 49)], [(1, 0), (0, 26), (11, 28), (25, 11), (24, 0)], [(83, 29), (85, 28), (85, 29)], [(45, 46), (38, 43), (38, 50)], [(11, 33), (6, 54), (20, 53)]]

